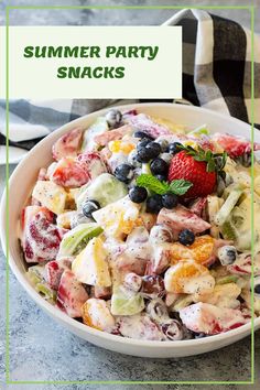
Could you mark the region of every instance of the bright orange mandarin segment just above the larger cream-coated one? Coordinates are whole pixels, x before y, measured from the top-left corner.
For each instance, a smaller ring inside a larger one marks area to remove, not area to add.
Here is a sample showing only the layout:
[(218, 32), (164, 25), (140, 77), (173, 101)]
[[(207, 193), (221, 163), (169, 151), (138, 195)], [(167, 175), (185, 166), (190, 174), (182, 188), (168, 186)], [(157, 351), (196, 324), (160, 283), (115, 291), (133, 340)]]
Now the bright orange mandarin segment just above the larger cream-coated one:
[(214, 245), (214, 238), (208, 235), (196, 237), (194, 243), (188, 247), (180, 242), (174, 242), (171, 246), (171, 263), (175, 264), (183, 260), (194, 260), (199, 264), (207, 264), (213, 254)]

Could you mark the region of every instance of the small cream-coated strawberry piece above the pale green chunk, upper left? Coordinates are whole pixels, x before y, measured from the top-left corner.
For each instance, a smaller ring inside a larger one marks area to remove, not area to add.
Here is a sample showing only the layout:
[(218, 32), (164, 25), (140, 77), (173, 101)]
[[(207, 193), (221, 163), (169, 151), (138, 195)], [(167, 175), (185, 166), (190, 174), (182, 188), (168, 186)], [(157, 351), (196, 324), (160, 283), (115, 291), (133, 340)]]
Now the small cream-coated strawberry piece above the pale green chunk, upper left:
[(77, 156), (77, 161), (87, 172), (90, 180), (98, 177), (101, 173), (107, 172), (106, 164), (101, 155), (97, 152), (83, 153)]

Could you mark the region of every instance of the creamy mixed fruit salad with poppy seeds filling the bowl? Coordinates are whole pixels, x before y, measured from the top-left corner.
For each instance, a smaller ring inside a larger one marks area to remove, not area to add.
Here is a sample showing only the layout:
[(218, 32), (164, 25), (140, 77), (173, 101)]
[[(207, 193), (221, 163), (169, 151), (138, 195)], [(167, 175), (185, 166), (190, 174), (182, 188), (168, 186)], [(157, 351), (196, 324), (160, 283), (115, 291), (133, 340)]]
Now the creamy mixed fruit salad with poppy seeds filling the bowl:
[[(110, 109), (53, 144), (21, 213), (35, 290), (86, 326), (182, 340), (260, 315), (259, 144)], [(251, 158), (254, 267), (251, 283)]]

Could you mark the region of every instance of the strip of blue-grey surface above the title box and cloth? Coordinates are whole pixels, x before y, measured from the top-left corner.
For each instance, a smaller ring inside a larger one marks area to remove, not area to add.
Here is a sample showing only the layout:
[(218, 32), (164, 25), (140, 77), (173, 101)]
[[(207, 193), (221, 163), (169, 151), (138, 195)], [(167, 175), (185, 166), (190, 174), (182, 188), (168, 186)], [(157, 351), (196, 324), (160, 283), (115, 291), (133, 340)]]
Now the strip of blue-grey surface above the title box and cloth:
[[(0, 23), (4, 24), (6, 6), (257, 6), (260, 0), (3, 0), (0, 1)], [(258, 10), (259, 11), (259, 10)], [(24, 12), (26, 17), (24, 18)], [(12, 10), (11, 25), (149, 25), (161, 24), (177, 10)], [(209, 10), (210, 12), (210, 10)], [(250, 28), (247, 10), (212, 10), (220, 17), (232, 19)], [(257, 12), (256, 12), (257, 13)], [(260, 31), (260, 18), (256, 18), (254, 30)]]

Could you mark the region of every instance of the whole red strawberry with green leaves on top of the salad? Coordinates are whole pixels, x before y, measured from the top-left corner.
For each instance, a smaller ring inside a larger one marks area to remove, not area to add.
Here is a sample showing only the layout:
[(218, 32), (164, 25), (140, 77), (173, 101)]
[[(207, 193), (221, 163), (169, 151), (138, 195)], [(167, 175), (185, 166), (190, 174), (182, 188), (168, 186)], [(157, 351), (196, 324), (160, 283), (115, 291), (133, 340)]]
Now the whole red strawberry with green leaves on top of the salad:
[(170, 164), (169, 181), (184, 178), (193, 186), (186, 192), (185, 199), (207, 196), (215, 189), (217, 174), (221, 172), (226, 163), (226, 154), (195, 150), (191, 147), (182, 147)]

